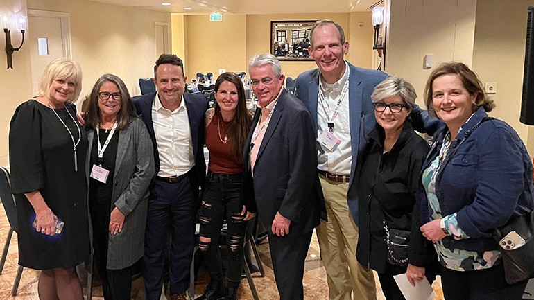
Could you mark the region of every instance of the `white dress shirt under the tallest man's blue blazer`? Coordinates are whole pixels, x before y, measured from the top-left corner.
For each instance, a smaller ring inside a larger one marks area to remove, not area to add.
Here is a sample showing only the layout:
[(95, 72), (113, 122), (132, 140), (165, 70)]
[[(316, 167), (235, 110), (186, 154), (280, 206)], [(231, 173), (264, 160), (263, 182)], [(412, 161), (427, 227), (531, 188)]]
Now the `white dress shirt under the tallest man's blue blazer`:
[[(352, 164), (352, 146), (350, 144), (350, 122), (349, 122), (349, 89), (345, 95), (341, 95), (345, 82), (349, 80), (349, 66), (345, 62), (345, 73), (333, 84), (322, 80), (319, 76), (319, 89), (325, 96), (326, 103), (330, 114), (334, 111), (339, 97), (343, 96), (338, 114), (334, 118), (334, 136), (341, 140), (338, 148), (329, 151), (320, 145), (318, 150), (318, 168), (336, 175), (350, 175), (350, 166)], [(328, 120), (325, 109), (322, 107), (320, 95), (317, 95), (317, 136), (328, 130)]]

